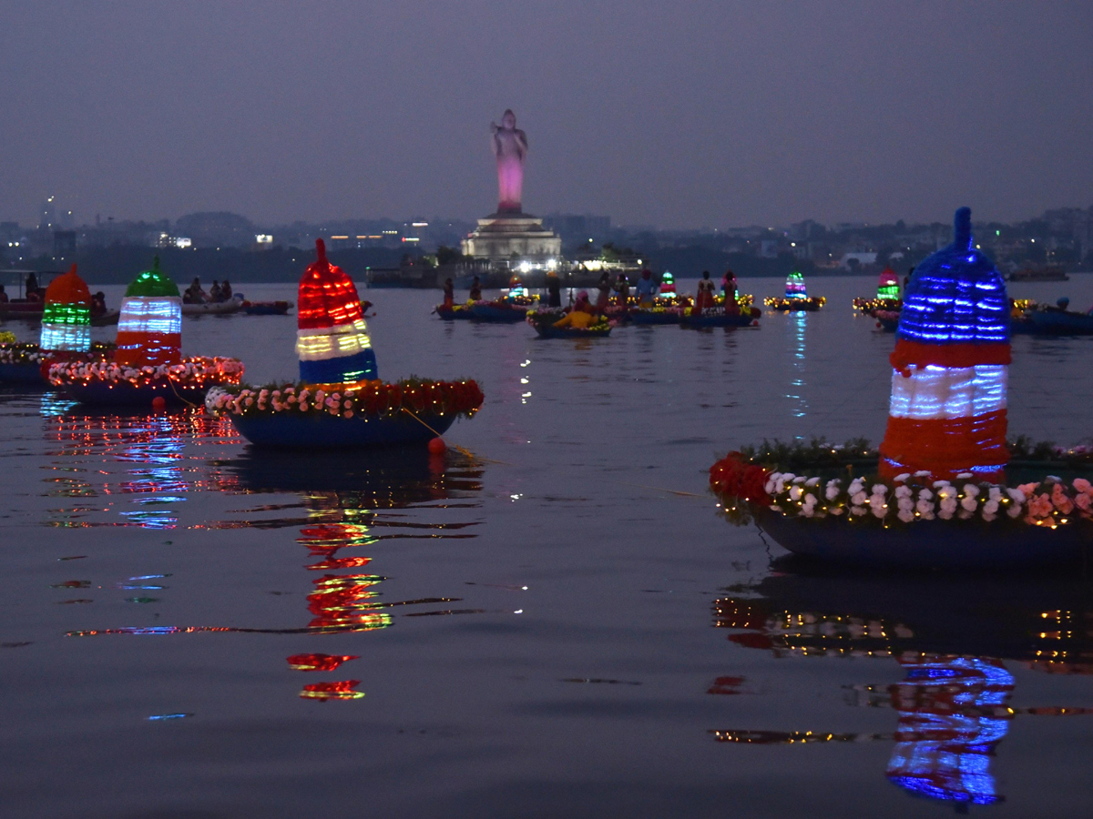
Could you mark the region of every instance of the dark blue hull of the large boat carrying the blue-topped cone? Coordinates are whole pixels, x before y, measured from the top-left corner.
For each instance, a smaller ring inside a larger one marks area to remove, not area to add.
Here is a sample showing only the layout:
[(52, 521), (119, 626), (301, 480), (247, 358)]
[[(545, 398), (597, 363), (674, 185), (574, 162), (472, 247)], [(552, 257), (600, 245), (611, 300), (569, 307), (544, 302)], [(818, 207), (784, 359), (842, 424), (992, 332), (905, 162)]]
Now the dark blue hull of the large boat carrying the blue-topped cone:
[(787, 518), (767, 509), (756, 510), (756, 522), (795, 555), (882, 569), (1068, 566), (1093, 544), (1093, 526), (1084, 522), (1050, 530), (932, 520), (875, 529), (842, 518)]

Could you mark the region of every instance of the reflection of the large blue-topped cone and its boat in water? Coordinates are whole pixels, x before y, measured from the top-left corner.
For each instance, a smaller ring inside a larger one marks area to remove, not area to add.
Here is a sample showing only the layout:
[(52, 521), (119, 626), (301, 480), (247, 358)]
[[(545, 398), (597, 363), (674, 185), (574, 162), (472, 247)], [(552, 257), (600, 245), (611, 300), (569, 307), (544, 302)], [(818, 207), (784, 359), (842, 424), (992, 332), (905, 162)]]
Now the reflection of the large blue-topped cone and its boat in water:
[[(894, 661), (903, 680), (844, 686), (844, 700), (896, 711), (895, 731), (713, 729), (718, 741), (894, 743), (886, 767), (892, 783), (915, 796), (990, 805), (1004, 800), (992, 760), (1014, 716), (1093, 714), (1093, 708), (1073, 705), (1014, 709), (1015, 680), (1007, 669), (1020, 663), (1035, 672), (1093, 674), (1093, 602), (1084, 582), (893, 580), (781, 562), (784, 572), (736, 589), (741, 596), (717, 600), (715, 627), (729, 629), (737, 645), (780, 658)], [(721, 678), (709, 693), (738, 693), (743, 685), (743, 678)]]

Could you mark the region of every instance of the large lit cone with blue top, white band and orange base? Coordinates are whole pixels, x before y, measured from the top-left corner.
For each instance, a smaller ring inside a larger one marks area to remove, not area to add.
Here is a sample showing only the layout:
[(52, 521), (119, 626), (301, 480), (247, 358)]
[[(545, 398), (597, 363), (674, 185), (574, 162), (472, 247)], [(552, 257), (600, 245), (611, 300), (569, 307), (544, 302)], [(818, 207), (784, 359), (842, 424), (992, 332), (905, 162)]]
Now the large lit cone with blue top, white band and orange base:
[(915, 269), (891, 355), (892, 399), (881, 474), (1001, 476), (1010, 317), (995, 263), (972, 245), (972, 212), (956, 211), (953, 244)]

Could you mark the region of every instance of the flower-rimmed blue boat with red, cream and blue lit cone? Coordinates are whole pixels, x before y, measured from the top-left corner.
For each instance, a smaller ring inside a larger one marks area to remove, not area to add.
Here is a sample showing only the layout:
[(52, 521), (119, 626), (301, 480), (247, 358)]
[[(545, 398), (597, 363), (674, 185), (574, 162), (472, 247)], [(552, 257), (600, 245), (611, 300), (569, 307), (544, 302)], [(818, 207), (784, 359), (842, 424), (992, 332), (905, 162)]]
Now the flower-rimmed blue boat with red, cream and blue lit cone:
[(205, 410), (254, 446), (281, 449), (432, 447), (457, 418), (472, 417), (483, 401), (474, 381), (379, 380), (356, 287), (327, 261), (321, 239), (316, 251), (299, 281), (299, 381), (211, 390)]

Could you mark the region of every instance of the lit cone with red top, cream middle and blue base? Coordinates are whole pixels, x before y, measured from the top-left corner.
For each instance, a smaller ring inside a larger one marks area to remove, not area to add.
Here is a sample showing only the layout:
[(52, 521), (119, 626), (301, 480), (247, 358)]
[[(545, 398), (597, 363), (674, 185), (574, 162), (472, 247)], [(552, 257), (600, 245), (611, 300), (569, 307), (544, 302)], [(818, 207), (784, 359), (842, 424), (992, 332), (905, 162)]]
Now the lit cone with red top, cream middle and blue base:
[(322, 239), (315, 240), (315, 249), (318, 258), (299, 280), (299, 378), (314, 384), (374, 380), (378, 378), (376, 354), (356, 287), (341, 268), (327, 261)]

